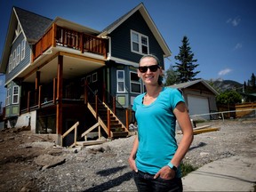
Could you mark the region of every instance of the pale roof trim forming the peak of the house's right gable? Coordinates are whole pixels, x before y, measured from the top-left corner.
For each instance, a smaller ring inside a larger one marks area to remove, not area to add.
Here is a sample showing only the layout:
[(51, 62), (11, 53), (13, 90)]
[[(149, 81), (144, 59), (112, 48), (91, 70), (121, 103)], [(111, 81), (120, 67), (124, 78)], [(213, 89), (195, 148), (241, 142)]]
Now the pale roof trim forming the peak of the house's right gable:
[(152, 31), (153, 35), (156, 37), (156, 40), (158, 44), (160, 44), (163, 52), (164, 57), (171, 56), (172, 52), (170, 51), (168, 45), (165, 43), (163, 36), (160, 34), (159, 30), (156, 28), (156, 25), (154, 21), (151, 19), (150, 15), (148, 14), (148, 11), (146, 10), (143, 3), (140, 3), (138, 6), (133, 8), (130, 12), (127, 12), (122, 17), (120, 17), (115, 22), (111, 23), (107, 28), (104, 28), (99, 36), (108, 36), (112, 31), (114, 31), (118, 26), (120, 26), (125, 20), (130, 18), (134, 12), (139, 11), (144, 18), (144, 20), (148, 24), (148, 28)]

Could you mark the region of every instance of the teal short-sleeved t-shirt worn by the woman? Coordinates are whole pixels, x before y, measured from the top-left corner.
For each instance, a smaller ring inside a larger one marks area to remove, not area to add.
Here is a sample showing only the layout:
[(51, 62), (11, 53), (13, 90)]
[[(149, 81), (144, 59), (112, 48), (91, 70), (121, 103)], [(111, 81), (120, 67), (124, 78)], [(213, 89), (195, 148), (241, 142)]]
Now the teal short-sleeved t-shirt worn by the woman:
[[(173, 109), (184, 99), (179, 90), (163, 87), (153, 103), (143, 105), (145, 94), (137, 96), (132, 106), (138, 124), (136, 165), (141, 172), (156, 174), (172, 160), (178, 148)], [(176, 176), (181, 176), (180, 169)]]

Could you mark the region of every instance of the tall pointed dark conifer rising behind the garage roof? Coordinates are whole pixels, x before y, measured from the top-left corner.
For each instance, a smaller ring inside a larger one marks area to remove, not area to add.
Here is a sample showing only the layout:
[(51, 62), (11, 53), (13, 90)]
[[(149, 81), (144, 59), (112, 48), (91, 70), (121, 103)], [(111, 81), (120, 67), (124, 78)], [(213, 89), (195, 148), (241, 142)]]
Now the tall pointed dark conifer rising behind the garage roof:
[(178, 73), (178, 77), (181, 83), (195, 80), (194, 78), (200, 71), (194, 71), (199, 64), (195, 64), (197, 60), (194, 60), (194, 53), (191, 51), (191, 47), (188, 43), (188, 37), (184, 36), (182, 39), (182, 45), (180, 46), (180, 53), (174, 57), (176, 66), (173, 66)]

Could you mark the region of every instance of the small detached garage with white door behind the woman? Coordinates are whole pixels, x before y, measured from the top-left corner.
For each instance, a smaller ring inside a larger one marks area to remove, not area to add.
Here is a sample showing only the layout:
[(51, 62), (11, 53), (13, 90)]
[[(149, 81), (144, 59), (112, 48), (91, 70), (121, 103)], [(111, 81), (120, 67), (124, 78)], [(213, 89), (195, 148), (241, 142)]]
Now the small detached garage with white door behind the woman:
[(198, 79), (183, 84), (174, 84), (170, 87), (178, 88), (182, 91), (188, 106), (189, 115), (193, 120), (202, 118), (209, 120), (216, 118), (216, 116), (218, 118), (218, 115), (209, 114), (218, 111), (215, 97), (219, 93), (216, 92), (210, 84), (204, 81), (204, 79)]

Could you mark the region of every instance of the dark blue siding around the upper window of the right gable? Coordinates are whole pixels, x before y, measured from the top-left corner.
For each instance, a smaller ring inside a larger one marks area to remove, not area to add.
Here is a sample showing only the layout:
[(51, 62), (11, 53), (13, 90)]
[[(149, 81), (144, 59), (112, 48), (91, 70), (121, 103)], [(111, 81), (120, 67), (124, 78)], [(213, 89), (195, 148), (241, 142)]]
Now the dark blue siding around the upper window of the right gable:
[(142, 55), (131, 52), (131, 29), (148, 36), (149, 53), (155, 54), (164, 67), (164, 52), (139, 11), (135, 12), (128, 20), (125, 20), (123, 24), (110, 34), (112, 56), (123, 60), (139, 62)]

